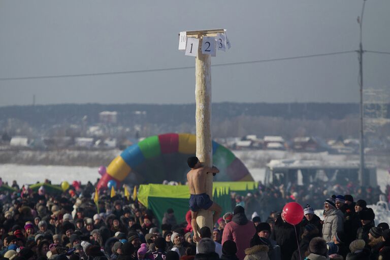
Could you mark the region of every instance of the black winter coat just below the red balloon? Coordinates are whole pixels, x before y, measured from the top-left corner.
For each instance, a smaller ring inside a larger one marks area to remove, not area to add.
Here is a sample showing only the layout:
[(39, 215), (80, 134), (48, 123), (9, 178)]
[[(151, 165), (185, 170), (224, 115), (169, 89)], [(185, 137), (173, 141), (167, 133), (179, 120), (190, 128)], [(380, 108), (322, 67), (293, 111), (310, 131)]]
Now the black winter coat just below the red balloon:
[(294, 251), (298, 248), (296, 232), (299, 234), (300, 224), (291, 225), (284, 222), (281, 217), (276, 219), (272, 239), (278, 243), (282, 260), (290, 260)]

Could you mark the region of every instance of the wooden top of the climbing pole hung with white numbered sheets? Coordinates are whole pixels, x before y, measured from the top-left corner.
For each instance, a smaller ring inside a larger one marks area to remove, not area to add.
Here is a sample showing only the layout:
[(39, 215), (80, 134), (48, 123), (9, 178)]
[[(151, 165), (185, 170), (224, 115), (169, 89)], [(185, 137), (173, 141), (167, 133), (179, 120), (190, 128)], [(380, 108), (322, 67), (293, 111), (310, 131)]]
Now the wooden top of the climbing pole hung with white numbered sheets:
[(226, 30), (213, 29), (207, 31), (181, 31), (179, 34), (179, 50), (185, 50), (187, 56), (198, 56), (199, 42), (202, 38), (202, 54), (216, 56), (216, 50), (230, 49), (230, 42), (226, 37)]

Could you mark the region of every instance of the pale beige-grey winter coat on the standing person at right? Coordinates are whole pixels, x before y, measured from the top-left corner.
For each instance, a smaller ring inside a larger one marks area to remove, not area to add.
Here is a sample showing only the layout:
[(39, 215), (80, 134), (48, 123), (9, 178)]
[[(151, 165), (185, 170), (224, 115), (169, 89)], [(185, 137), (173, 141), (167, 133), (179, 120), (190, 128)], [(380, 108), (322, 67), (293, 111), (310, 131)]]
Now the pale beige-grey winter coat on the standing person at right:
[(338, 231), (344, 230), (343, 214), (338, 209), (330, 209), (323, 213), (322, 238), (328, 243)]

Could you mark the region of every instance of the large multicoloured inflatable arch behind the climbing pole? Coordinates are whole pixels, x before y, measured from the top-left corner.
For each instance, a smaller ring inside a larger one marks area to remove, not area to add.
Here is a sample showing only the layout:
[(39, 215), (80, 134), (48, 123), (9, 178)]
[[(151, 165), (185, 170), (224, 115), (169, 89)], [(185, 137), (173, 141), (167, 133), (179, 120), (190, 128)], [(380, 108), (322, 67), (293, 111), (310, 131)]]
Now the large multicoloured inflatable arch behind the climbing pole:
[[(111, 161), (102, 173), (98, 188), (106, 188), (110, 180), (117, 186), (130, 173), (135, 183), (162, 183), (164, 180), (186, 181), (187, 158), (196, 153), (196, 136), (192, 134), (163, 134), (145, 138), (127, 147)], [(229, 149), (213, 141), (213, 165), (220, 173), (215, 181), (253, 181), (248, 169)]]

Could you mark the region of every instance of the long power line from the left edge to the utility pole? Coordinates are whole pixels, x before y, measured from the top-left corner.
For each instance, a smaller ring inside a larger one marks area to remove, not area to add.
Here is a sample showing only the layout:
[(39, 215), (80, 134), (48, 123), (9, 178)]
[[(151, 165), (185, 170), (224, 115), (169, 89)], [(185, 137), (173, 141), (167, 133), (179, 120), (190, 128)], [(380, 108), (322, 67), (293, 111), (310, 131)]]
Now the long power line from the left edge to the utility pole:
[[(293, 57), (283, 57), (283, 58), (252, 60), (252, 61), (230, 62), (230, 63), (214, 64), (214, 65), (211, 65), (211, 66), (212, 67), (234, 66), (234, 65), (240, 65), (240, 64), (251, 64), (251, 63), (271, 62), (271, 61), (280, 61), (280, 60), (290, 60), (290, 59), (301, 59), (301, 58), (312, 58), (312, 57), (320, 57), (320, 56), (340, 55), (340, 54), (354, 53), (354, 52), (355, 51), (328, 52), (328, 53), (311, 54), (311, 55), (303, 55), (303, 56), (293, 56)], [(176, 67), (176, 68), (161, 68), (161, 69), (151, 69), (151, 70), (119, 71), (119, 72), (67, 74), (67, 75), (49, 75), (49, 76), (31, 76), (31, 77), (10, 77), (10, 78), (0, 78), (0, 81), (28, 80), (28, 79), (54, 79), (54, 78), (72, 78), (72, 77), (90, 77), (90, 76), (103, 76), (103, 75), (115, 75), (115, 74), (132, 74), (132, 73), (144, 73), (144, 72), (175, 71), (175, 70), (186, 70), (186, 69), (193, 69), (193, 68), (195, 68), (195, 66)]]

